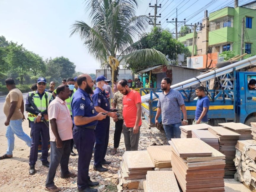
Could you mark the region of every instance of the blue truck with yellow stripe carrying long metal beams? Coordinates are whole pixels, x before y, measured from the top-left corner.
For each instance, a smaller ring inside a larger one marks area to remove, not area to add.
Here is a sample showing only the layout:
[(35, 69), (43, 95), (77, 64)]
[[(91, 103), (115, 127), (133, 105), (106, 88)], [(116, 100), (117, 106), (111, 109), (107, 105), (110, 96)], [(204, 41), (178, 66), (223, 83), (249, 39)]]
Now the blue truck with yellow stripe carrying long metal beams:
[[(217, 126), (218, 123), (231, 121), (246, 125), (256, 122), (256, 89), (248, 87), (248, 82), (256, 79), (256, 72), (245, 71), (255, 63), (256, 57), (250, 57), (172, 85), (171, 88), (179, 90), (184, 98), (189, 124), (192, 124), (195, 118), (197, 102), (195, 87), (199, 85), (206, 87), (205, 92), (210, 100), (208, 112), (210, 125)], [(145, 95), (147, 92), (149, 94)], [(142, 116), (150, 127), (155, 127), (159, 93), (161, 90), (140, 89)], [(161, 122), (161, 116), (158, 122)]]

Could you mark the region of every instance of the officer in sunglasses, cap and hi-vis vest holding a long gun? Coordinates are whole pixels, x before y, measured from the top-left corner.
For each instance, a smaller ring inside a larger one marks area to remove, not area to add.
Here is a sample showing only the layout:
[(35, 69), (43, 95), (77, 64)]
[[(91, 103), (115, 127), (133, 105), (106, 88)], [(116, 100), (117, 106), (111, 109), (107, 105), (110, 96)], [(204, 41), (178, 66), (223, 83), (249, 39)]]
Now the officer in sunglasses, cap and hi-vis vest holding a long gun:
[[(28, 93), (25, 104), (25, 109), (26, 111), (28, 111), (28, 119), (32, 135), (32, 144), (29, 155), (30, 175), (35, 174), (35, 164), (37, 161), (40, 133), (42, 140), (42, 156), (40, 160), (42, 161), (42, 165), (49, 167), (49, 161), (47, 160), (49, 127), (47, 126), (48, 122), (45, 121), (48, 121), (47, 108), (53, 98), (51, 93), (45, 92), (45, 88), (46, 79), (40, 77), (37, 80), (37, 90)], [(31, 100), (31, 97), (33, 98), (33, 100)], [(33, 104), (36, 106), (38, 110), (33, 108)]]

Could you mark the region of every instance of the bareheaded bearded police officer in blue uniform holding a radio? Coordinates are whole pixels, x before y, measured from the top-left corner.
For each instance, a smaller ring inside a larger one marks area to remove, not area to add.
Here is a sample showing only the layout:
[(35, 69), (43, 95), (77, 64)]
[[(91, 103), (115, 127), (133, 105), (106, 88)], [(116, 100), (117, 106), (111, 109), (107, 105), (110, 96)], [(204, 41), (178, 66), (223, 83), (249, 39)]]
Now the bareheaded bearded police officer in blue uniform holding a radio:
[(77, 78), (78, 89), (73, 95), (71, 102), (73, 115), (73, 140), (78, 151), (78, 191), (97, 192), (90, 188), (99, 185), (92, 182), (89, 177), (89, 164), (92, 159), (92, 150), (95, 143), (95, 127), (98, 121), (105, 119), (106, 115), (97, 113), (90, 94), (93, 94), (92, 78), (83, 74)]

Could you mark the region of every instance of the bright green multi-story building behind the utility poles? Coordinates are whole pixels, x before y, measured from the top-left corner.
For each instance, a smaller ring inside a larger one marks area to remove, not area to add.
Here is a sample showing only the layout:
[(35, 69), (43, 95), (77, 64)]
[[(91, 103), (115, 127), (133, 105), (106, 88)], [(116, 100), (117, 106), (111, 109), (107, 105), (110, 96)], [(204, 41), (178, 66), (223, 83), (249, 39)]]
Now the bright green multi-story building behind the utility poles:
[[(196, 31), (194, 55), (207, 51), (219, 52), (232, 50), (235, 55), (241, 51), (242, 18), (244, 17), (243, 53), (256, 54), (256, 1), (234, 7), (225, 7), (209, 14), (202, 21), (203, 28)], [(193, 33), (178, 38), (192, 52)]]

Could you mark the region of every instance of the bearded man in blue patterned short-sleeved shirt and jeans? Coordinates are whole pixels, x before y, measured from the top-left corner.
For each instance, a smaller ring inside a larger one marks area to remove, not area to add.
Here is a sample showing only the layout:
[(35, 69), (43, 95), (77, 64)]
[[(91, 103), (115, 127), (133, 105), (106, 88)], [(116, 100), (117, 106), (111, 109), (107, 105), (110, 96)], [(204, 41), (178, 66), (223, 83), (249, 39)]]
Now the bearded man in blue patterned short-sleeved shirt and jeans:
[[(161, 81), (161, 90), (157, 103), (156, 126), (158, 118), (162, 115), (162, 124), (167, 140), (172, 138), (180, 138), (180, 126), (187, 125), (187, 110), (182, 95), (177, 90), (171, 89), (171, 79), (165, 77)], [(181, 108), (181, 110), (180, 110)], [(181, 111), (183, 113), (183, 121), (181, 120)]]

